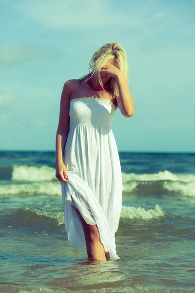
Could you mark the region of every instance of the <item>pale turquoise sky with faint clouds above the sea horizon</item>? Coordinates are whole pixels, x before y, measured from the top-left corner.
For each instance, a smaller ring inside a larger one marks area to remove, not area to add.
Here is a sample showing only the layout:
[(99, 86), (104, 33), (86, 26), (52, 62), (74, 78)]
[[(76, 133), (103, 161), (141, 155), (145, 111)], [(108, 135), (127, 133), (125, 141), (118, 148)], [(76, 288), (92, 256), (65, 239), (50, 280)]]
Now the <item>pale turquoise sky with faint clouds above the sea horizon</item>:
[(0, 0), (0, 150), (55, 151), (64, 83), (107, 42), (127, 53), (135, 113), (118, 151), (195, 151), (195, 1)]

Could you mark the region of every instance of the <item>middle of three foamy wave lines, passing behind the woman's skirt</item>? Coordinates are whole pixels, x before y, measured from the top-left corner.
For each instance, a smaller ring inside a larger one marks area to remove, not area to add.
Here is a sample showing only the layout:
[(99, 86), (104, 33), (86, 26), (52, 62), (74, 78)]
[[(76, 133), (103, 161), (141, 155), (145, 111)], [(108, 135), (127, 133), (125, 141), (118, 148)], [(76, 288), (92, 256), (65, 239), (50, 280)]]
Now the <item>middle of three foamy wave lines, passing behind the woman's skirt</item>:
[[(195, 182), (173, 182), (173, 181), (130, 181), (123, 183), (124, 196), (136, 197), (161, 197), (161, 196), (179, 196), (195, 198)], [(61, 186), (59, 181), (25, 183), (25, 184), (1, 184), (0, 197), (31, 197), (47, 195), (50, 197), (61, 196)]]

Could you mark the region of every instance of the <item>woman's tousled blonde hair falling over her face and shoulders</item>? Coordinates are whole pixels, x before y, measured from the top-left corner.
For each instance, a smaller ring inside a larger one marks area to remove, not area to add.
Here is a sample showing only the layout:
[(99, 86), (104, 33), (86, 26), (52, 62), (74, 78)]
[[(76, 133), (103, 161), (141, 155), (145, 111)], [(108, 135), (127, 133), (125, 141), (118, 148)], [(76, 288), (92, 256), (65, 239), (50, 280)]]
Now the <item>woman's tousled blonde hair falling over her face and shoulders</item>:
[[(79, 78), (80, 82), (86, 82), (88, 80), (88, 75), (90, 77), (94, 74), (95, 70), (98, 71), (98, 82), (103, 88), (103, 84), (100, 78), (99, 70), (102, 66), (104, 66), (107, 62), (115, 60), (116, 67), (123, 73), (124, 78), (128, 84), (128, 76), (131, 78), (130, 74), (128, 73), (128, 63), (127, 63), (127, 55), (125, 49), (117, 42), (106, 43), (100, 47), (92, 56), (89, 62), (89, 73)], [(90, 72), (92, 69), (92, 72)], [(110, 87), (113, 92), (113, 100), (117, 99), (119, 96), (118, 87), (116, 79), (111, 77), (110, 78)], [(103, 88), (105, 91), (105, 89)]]

